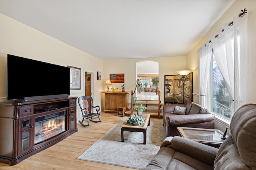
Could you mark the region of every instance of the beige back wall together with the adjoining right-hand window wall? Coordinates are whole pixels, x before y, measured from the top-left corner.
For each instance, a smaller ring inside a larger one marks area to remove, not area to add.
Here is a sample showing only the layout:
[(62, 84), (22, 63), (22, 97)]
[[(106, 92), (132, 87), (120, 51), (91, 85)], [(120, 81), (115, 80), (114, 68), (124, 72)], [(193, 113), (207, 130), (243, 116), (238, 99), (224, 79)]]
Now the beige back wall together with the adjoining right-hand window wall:
[[(136, 83), (136, 62), (143, 60), (154, 60), (159, 62), (159, 78), (160, 78), (160, 89), (162, 91), (161, 100), (164, 101), (164, 75), (176, 74), (177, 70), (188, 69), (193, 71), (193, 101), (199, 103), (198, 96), (198, 53), (197, 50), (202, 44), (208, 42), (213, 35), (218, 34), (218, 31), (223, 28), (225, 23), (229, 23), (233, 20), (233, 17), (240, 13), (240, 10), (246, 8), (248, 10), (248, 56), (250, 61), (247, 63), (247, 67), (244, 69), (248, 70), (248, 85), (247, 103), (256, 103), (256, 78), (254, 74), (256, 72), (256, 1), (255, 0), (236, 0), (234, 4), (227, 10), (227, 12), (217, 21), (217, 23), (208, 31), (208, 33), (196, 44), (196, 46), (186, 55), (177, 57), (162, 57), (156, 59), (131, 59), (131, 60), (118, 60), (118, 61), (104, 61), (104, 79), (107, 79), (109, 73), (120, 72), (125, 70), (125, 83), (128, 84), (127, 90), (134, 90)], [(122, 68), (116, 68), (116, 64), (122, 65)], [(132, 75), (128, 75), (132, 74)], [(127, 75), (127, 76), (126, 76)], [(117, 85), (118, 86), (118, 85)], [(225, 125), (216, 122), (216, 129), (222, 131), (225, 130)]]

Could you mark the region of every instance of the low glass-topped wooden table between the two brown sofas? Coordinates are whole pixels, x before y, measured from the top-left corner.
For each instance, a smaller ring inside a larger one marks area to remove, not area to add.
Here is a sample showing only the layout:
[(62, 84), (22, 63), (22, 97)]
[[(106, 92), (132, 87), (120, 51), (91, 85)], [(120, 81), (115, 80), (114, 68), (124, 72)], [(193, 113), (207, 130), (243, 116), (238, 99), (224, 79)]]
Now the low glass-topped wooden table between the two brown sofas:
[[(223, 141), (223, 132), (218, 129), (203, 129), (193, 127), (177, 127), (180, 136), (193, 141), (219, 148)], [(227, 135), (226, 135), (227, 137)]]

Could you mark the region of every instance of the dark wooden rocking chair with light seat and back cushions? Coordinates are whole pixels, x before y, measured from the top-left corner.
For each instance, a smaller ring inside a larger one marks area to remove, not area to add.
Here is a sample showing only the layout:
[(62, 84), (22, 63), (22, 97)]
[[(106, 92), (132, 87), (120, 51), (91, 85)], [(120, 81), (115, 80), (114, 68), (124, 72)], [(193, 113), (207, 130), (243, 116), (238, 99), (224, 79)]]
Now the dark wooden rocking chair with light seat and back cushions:
[[(90, 99), (89, 102), (91, 102), (91, 105), (89, 105), (87, 99)], [(100, 111), (100, 106), (93, 106), (93, 99), (91, 96), (81, 96), (78, 98), (78, 104), (80, 106), (81, 112), (82, 112), (82, 116), (83, 119), (82, 121), (79, 121), (79, 123), (86, 127), (89, 126), (89, 121), (92, 122), (101, 122), (100, 120), (100, 113), (98, 111)], [(89, 113), (88, 108), (89, 106), (91, 106), (91, 113)], [(93, 108), (96, 108), (97, 113), (93, 113)], [(99, 121), (94, 121), (93, 119), (99, 119)], [(83, 124), (83, 121), (87, 120), (87, 125)]]

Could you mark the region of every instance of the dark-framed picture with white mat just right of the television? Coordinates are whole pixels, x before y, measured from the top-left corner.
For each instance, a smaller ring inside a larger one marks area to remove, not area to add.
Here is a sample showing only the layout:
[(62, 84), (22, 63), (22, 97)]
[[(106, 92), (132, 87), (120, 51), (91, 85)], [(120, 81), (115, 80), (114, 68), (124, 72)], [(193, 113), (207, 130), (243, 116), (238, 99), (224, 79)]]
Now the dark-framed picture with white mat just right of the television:
[(68, 66), (70, 68), (70, 90), (81, 89), (81, 68)]

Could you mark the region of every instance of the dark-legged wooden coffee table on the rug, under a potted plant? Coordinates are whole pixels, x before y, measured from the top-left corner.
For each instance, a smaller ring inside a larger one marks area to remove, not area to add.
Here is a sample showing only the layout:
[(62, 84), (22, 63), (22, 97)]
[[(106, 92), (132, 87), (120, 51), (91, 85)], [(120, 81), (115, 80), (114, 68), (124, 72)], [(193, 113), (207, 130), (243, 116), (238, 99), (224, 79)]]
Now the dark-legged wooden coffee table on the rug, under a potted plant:
[(124, 131), (130, 132), (143, 132), (143, 144), (146, 144), (147, 138), (147, 128), (150, 125), (150, 115), (149, 114), (142, 114), (141, 116), (145, 123), (143, 125), (127, 125), (127, 121), (121, 125), (121, 139), (124, 142)]

